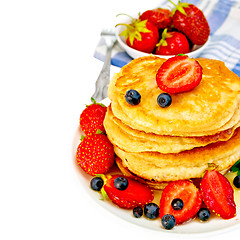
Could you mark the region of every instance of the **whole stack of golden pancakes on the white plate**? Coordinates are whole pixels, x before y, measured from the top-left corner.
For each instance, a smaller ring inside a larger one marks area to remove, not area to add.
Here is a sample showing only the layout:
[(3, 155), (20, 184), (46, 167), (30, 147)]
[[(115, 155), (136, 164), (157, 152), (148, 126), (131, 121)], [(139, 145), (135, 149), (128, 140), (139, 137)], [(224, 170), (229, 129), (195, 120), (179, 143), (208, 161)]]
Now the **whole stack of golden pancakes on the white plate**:
[[(166, 59), (133, 60), (109, 85), (104, 120), (116, 162), (126, 175), (162, 189), (169, 181), (200, 178), (209, 164), (225, 173), (240, 158), (240, 80), (223, 62), (196, 59), (203, 68), (200, 84), (171, 94), (162, 108), (156, 73)], [(128, 90), (141, 94), (138, 105), (125, 99)]]

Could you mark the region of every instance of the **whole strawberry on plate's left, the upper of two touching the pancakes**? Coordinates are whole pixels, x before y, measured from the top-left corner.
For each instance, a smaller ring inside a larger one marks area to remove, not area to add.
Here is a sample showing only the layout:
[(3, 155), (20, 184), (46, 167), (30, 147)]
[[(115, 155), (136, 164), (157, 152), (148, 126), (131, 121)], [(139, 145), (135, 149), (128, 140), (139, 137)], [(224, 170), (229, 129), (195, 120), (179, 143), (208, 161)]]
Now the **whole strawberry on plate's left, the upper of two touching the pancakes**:
[(107, 107), (103, 104), (96, 103), (93, 98), (92, 102), (91, 105), (87, 105), (80, 115), (80, 127), (86, 135), (95, 134), (98, 129), (105, 133), (103, 120)]

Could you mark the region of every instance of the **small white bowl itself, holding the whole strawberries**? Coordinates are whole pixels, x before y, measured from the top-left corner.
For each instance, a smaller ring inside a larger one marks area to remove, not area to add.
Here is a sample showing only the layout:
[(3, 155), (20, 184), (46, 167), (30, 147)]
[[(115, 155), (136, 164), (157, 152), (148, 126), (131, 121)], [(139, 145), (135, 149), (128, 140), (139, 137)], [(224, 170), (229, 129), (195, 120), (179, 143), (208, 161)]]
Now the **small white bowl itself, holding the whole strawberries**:
[[(115, 31), (115, 34), (116, 34), (116, 37), (117, 37), (117, 40), (120, 44), (120, 46), (127, 52), (127, 54), (132, 57), (132, 58), (139, 58), (139, 57), (144, 57), (144, 56), (148, 56), (150, 55), (150, 53), (145, 53), (145, 52), (141, 52), (141, 51), (138, 51), (136, 49), (133, 49), (131, 47), (129, 47), (127, 44), (126, 44), (126, 40), (125, 40), (125, 37), (123, 36), (119, 36), (119, 34), (125, 29), (126, 27), (125, 26), (122, 26), (122, 25), (119, 25), (116, 27), (116, 31)], [(206, 46), (208, 45), (210, 41), (210, 36), (208, 37), (208, 40), (207, 42), (204, 44), (204, 45), (194, 45), (191, 49), (191, 52), (189, 53), (185, 53), (186, 55), (188, 55), (189, 57), (191, 58), (195, 58), (197, 57), (205, 48)], [(156, 54), (153, 54), (155, 56), (158, 56), (158, 57), (161, 57), (161, 58), (170, 58), (170, 57), (173, 57), (175, 55), (156, 55)]]

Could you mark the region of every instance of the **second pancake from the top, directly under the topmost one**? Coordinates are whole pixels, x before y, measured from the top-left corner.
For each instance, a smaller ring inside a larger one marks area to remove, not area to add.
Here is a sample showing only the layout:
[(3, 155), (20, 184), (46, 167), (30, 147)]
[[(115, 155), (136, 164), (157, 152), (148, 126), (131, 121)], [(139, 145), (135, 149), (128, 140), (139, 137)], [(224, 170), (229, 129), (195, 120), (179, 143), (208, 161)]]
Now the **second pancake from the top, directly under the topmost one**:
[(109, 140), (119, 148), (129, 152), (160, 152), (178, 153), (195, 147), (206, 146), (218, 141), (227, 141), (231, 138), (237, 126), (219, 132), (215, 135), (201, 137), (163, 136), (132, 129), (116, 118), (111, 106), (108, 107), (104, 119)]

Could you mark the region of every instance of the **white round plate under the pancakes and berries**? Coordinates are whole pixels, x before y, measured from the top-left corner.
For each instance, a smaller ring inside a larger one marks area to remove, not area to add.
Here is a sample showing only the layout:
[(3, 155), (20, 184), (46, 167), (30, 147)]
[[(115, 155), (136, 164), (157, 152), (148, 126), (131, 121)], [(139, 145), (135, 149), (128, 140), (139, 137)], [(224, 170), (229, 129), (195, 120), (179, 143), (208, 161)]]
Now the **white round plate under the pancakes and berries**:
[[(103, 101), (103, 103), (105, 105), (108, 105), (109, 100), (105, 99)], [(83, 110), (85, 108), (85, 106), (82, 106)], [(81, 112), (80, 112), (81, 113)], [(76, 159), (75, 159), (75, 154), (76, 154), (76, 149), (80, 143), (80, 138), (81, 138), (82, 132), (80, 131), (80, 129), (76, 130), (76, 134), (73, 140), (73, 167), (74, 167), (74, 171), (77, 174), (77, 178), (79, 180), (79, 184), (81, 184), (84, 189), (86, 190), (86, 194), (90, 195), (90, 197), (96, 201), (98, 204), (100, 204), (104, 209), (106, 209), (106, 211), (109, 211), (117, 216), (119, 216), (120, 218), (131, 222), (133, 224), (136, 224), (138, 226), (141, 226), (143, 228), (148, 228), (150, 230), (155, 230), (155, 231), (159, 231), (159, 232), (164, 232), (164, 233), (169, 233), (169, 234), (176, 234), (176, 235), (181, 235), (181, 236), (206, 236), (206, 235), (212, 235), (212, 234), (216, 234), (216, 233), (221, 233), (221, 232), (226, 232), (226, 231), (230, 231), (233, 230), (234, 228), (239, 228), (239, 223), (240, 223), (240, 219), (239, 219), (239, 212), (240, 212), (240, 191), (237, 192), (237, 194), (235, 195), (235, 201), (237, 204), (237, 216), (229, 219), (229, 220), (224, 220), (220, 217), (214, 216), (213, 214), (211, 215), (211, 218), (209, 221), (207, 222), (200, 222), (197, 219), (194, 219), (190, 222), (181, 224), (181, 225), (177, 225), (175, 226), (173, 229), (171, 230), (166, 230), (164, 228), (162, 228), (161, 226), (161, 222), (160, 219), (157, 218), (155, 220), (149, 220), (146, 217), (141, 217), (141, 218), (135, 218), (132, 215), (132, 210), (126, 210), (126, 209), (121, 209), (118, 206), (114, 205), (110, 200), (105, 200), (102, 201), (101, 199), (101, 195), (96, 192), (93, 191), (90, 188), (90, 180), (92, 179), (92, 176), (86, 174), (81, 167), (77, 164)], [(118, 170), (117, 168), (113, 168), (112, 172), (116, 173)], [(158, 192), (156, 197), (154, 198), (154, 202), (159, 204), (159, 196), (158, 196)]]

